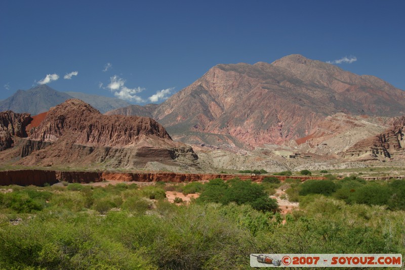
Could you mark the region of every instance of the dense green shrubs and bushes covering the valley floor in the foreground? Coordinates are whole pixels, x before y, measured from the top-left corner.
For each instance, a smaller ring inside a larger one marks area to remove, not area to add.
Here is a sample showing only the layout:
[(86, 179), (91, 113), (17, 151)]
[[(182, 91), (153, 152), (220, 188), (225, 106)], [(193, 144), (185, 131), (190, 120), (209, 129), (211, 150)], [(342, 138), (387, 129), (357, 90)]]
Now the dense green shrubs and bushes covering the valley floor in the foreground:
[[(405, 252), (404, 181), (317, 182), (4, 187), (0, 268), (250, 269), (250, 253)], [(280, 184), (300, 201), (285, 217), (254, 203)], [(174, 205), (173, 188), (201, 196)]]

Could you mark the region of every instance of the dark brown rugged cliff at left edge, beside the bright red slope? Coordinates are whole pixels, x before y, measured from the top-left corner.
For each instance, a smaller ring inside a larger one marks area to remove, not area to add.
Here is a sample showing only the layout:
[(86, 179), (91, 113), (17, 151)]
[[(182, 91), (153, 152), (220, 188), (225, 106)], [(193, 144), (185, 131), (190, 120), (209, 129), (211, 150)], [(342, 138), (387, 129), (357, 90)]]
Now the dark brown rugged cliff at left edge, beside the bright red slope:
[(26, 126), (31, 120), (29, 113), (0, 112), (0, 151), (13, 146), (13, 136), (27, 137)]

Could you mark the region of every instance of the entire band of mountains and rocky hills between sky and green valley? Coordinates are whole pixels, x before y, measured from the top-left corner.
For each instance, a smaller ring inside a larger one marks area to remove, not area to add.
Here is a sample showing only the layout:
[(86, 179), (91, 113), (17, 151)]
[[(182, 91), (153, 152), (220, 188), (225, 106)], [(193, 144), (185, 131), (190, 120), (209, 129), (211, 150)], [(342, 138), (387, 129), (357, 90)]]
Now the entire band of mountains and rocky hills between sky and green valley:
[[(121, 104), (68, 94), (103, 110)], [(405, 92), (374, 76), (301, 55), (273, 63), (216, 65), (161, 104), (104, 114), (78, 99), (51, 105), (66, 95), (38, 86), (0, 102), (21, 102), (17, 111), (52, 107), (34, 117), (0, 114), (0, 160), (217, 172), (405, 160)]]

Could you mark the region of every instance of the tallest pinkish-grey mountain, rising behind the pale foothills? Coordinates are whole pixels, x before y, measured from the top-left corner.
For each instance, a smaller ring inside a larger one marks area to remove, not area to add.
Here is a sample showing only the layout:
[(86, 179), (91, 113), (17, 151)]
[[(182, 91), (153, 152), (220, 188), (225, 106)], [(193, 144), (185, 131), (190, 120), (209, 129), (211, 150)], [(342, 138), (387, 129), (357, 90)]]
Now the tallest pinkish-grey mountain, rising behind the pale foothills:
[(271, 64), (217, 65), (151, 115), (176, 140), (232, 148), (308, 136), (339, 112), (405, 114), (405, 92), (374, 76), (290, 55)]

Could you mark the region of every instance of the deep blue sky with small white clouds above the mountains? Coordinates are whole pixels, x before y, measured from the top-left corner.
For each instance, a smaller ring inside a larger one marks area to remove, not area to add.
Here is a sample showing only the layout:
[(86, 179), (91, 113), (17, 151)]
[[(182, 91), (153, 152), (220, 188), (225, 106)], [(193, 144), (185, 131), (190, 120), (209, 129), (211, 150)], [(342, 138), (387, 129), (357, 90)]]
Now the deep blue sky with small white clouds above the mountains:
[(0, 99), (48, 82), (159, 103), (216, 64), (290, 54), (347, 57), (337, 65), (405, 90), (404, 11), (405, 1), (0, 0)]

